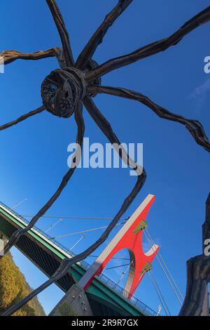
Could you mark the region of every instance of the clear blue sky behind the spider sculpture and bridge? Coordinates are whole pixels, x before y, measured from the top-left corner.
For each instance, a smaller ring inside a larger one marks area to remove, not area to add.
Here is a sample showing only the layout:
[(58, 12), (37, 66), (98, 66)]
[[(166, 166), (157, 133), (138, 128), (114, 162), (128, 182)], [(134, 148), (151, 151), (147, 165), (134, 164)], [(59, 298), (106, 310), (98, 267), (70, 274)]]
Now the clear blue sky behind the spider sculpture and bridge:
[[(117, 1), (58, 0), (57, 3), (76, 58)], [(206, 6), (209, 6), (208, 0), (134, 0), (109, 29), (94, 59), (102, 63), (167, 37)], [(200, 27), (164, 53), (107, 74), (102, 84), (145, 93), (172, 112), (200, 120), (210, 136), (210, 74), (203, 70), (204, 58), (210, 55), (209, 27)], [(1, 0), (0, 28), (1, 50), (34, 52), (60, 46), (54, 22), (43, 0)], [(55, 68), (57, 62), (53, 58), (16, 61), (6, 66), (5, 74), (0, 75), (2, 124), (41, 105), (41, 82)], [(209, 154), (195, 143), (183, 126), (158, 118), (144, 105), (108, 95), (97, 96), (95, 102), (122, 142), (144, 143), (148, 178), (125, 216), (130, 216), (148, 193), (155, 194), (156, 201), (148, 215), (149, 230), (155, 242), (160, 244), (162, 256), (184, 293), (186, 260), (201, 252), (201, 225), (210, 191)], [(89, 115), (84, 112), (84, 116), (85, 136), (92, 143), (106, 143)], [(73, 118), (59, 119), (48, 112), (2, 131), (1, 201), (13, 206), (27, 197), (28, 202), (16, 211), (22, 215), (35, 214), (57, 189), (67, 171), (67, 145), (75, 136)], [(113, 217), (132, 189), (134, 180), (126, 169), (78, 169), (48, 215)], [(53, 222), (52, 219), (41, 219), (38, 226), (46, 230)], [(99, 225), (104, 225), (104, 221), (65, 220), (51, 235)], [(83, 251), (101, 233), (88, 235), (73, 251)], [(71, 247), (79, 238), (80, 235), (60, 239), (60, 242)], [(32, 287), (45, 281), (45, 276), (15, 249), (13, 256)], [(153, 265), (155, 278), (172, 314), (176, 315), (179, 303), (157, 260)], [(105, 272), (118, 280), (120, 268), (116, 272)], [(151, 308), (158, 309), (158, 297), (147, 276), (135, 295)], [(62, 291), (51, 286), (39, 299), (45, 311), (50, 312), (61, 296)]]

